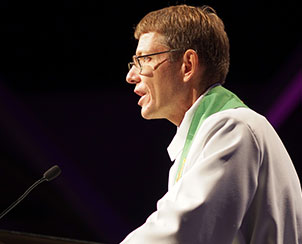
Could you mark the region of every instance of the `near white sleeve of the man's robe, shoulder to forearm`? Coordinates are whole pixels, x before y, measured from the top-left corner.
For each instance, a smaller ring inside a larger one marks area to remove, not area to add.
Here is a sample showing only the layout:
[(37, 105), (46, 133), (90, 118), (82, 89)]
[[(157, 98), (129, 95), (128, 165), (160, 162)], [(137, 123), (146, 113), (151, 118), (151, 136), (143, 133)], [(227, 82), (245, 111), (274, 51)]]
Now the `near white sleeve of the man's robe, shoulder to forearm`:
[(230, 244), (257, 188), (261, 153), (238, 119), (209, 117), (197, 132), (182, 178), (122, 244)]

